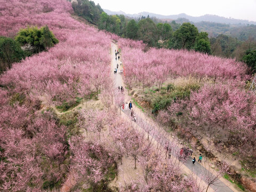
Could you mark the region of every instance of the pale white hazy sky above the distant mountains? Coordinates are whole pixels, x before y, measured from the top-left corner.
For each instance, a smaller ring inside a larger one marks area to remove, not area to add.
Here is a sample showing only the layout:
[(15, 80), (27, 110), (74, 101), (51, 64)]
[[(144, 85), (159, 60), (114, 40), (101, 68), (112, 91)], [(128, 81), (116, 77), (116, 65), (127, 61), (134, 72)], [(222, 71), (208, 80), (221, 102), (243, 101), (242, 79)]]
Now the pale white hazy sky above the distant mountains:
[(191, 16), (215, 14), (222, 17), (256, 21), (256, 0), (93, 0), (102, 9), (163, 15), (186, 13)]

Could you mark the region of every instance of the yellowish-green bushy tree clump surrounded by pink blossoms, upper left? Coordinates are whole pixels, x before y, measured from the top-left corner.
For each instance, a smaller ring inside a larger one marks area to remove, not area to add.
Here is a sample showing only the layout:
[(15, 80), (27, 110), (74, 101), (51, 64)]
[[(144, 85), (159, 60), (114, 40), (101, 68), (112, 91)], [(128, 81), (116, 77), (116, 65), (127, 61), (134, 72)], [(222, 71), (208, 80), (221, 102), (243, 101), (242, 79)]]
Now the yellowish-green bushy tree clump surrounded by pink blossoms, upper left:
[(31, 53), (45, 51), (59, 43), (59, 40), (55, 38), (54, 34), (47, 26), (40, 29), (37, 27), (21, 29), (15, 37), (15, 41), (19, 42), (21, 46), (29, 47), (28, 51)]

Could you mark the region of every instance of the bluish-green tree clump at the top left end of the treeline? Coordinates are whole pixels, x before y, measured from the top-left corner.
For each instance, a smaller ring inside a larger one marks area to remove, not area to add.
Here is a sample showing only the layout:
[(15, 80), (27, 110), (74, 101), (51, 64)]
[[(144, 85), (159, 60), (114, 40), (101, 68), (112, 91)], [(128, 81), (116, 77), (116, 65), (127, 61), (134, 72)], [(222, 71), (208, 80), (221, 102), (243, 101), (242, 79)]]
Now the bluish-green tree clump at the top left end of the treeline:
[(77, 2), (72, 3), (72, 7), (78, 16), (83, 17), (94, 25), (97, 25), (103, 12), (99, 4), (95, 5), (93, 1), (89, 0), (77, 0)]

